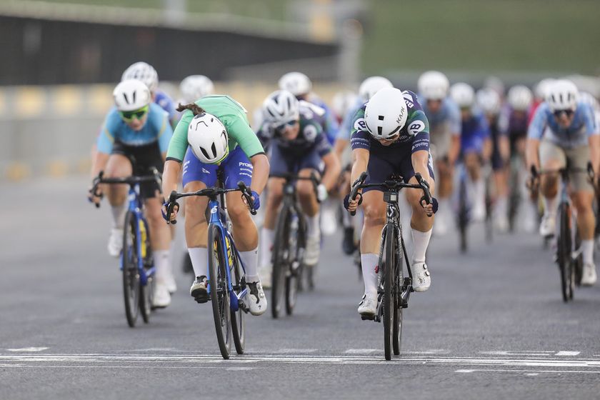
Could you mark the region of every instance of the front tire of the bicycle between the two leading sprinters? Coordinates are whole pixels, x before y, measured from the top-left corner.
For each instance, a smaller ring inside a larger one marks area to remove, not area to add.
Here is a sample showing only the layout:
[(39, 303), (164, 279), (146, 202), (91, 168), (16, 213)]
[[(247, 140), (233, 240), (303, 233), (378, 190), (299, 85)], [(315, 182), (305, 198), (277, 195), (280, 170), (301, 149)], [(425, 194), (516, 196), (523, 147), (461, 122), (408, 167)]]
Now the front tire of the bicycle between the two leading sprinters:
[(271, 264), (273, 265), (273, 274), (271, 274), (271, 316), (274, 319), (279, 318), (281, 307), (285, 303), (286, 294), (286, 271), (289, 243), (289, 216), (291, 211), (289, 206), (284, 205), (279, 211), (275, 229), (275, 241), (273, 244), (273, 253), (271, 254)]

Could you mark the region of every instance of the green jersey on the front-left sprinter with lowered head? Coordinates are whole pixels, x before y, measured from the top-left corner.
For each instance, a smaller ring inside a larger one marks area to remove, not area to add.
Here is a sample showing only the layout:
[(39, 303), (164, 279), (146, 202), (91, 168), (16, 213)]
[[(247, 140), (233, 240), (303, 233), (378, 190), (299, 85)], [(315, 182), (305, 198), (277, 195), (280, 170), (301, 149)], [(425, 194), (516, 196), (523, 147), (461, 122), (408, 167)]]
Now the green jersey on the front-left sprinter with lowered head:
[[(197, 100), (196, 104), (207, 113), (216, 116), (225, 126), (229, 136), (230, 152), (239, 145), (249, 159), (256, 154), (264, 154), (261, 142), (250, 128), (246, 109), (237, 101), (229, 96), (214, 95), (204, 96)], [(192, 111), (184, 111), (175, 128), (166, 159), (178, 162), (184, 159), (188, 148), (187, 131), (192, 118), (194, 118)]]

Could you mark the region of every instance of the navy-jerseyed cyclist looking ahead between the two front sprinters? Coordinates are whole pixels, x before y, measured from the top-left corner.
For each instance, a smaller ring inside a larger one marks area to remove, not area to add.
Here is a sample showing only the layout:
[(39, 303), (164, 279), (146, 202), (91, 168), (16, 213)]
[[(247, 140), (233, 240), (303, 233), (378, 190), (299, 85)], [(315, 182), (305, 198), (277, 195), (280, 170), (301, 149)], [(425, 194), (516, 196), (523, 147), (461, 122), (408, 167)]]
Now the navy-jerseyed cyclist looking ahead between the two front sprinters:
[(309, 177), (311, 173), (324, 174), (317, 188), (317, 196), (311, 181), (298, 181), (297, 193), (302, 211), (306, 215), (306, 253), (304, 264), (315, 266), (319, 261), (321, 231), (319, 229), (319, 201), (327, 199), (334, 188), (340, 172), (339, 161), (331, 151), (320, 124), (314, 119), (311, 107), (296, 100), (294, 94), (286, 90), (274, 91), (263, 103), (266, 124), (258, 135), (263, 141), (273, 141), (269, 146), (271, 155), (271, 175), (268, 183), (268, 196), (264, 224), (261, 231), (261, 276), (266, 283), (272, 271), (271, 247), (274, 241), (274, 227), (277, 210), (283, 199), (284, 179), (275, 176), (298, 174)]

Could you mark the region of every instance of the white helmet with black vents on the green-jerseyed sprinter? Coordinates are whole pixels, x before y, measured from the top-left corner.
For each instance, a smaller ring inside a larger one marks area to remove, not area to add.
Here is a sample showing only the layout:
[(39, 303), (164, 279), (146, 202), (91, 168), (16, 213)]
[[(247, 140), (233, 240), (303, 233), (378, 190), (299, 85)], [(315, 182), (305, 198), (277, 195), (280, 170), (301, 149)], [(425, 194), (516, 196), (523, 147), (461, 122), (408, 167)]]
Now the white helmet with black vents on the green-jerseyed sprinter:
[(196, 158), (206, 164), (219, 164), (229, 154), (229, 136), (225, 126), (216, 116), (206, 112), (191, 119), (188, 143)]

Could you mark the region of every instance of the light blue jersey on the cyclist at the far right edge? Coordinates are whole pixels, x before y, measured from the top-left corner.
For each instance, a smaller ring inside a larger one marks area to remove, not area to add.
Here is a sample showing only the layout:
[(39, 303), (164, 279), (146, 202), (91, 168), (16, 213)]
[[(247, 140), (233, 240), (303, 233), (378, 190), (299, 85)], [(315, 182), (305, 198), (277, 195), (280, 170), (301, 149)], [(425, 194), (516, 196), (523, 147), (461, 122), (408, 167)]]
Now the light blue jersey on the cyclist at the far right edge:
[(589, 136), (597, 134), (600, 132), (595, 128), (594, 111), (589, 104), (581, 101), (577, 103), (573, 121), (568, 128), (559, 126), (550, 107), (544, 102), (536, 109), (527, 131), (529, 139), (541, 140), (544, 137), (557, 146), (567, 149), (586, 146)]

